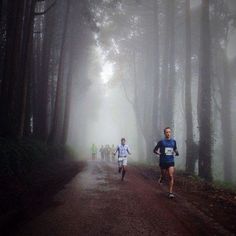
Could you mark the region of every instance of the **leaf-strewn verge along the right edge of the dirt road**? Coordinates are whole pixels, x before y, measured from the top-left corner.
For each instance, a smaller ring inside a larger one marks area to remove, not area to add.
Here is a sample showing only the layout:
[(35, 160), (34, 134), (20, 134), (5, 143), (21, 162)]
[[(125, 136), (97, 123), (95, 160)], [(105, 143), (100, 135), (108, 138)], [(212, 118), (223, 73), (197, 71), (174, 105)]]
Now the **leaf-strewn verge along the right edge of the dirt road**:
[[(158, 165), (134, 163), (134, 167), (148, 181), (160, 176)], [(164, 185), (167, 187), (168, 182)], [(184, 198), (208, 217), (236, 235), (236, 187), (221, 181), (207, 182), (197, 175), (176, 171), (174, 192), (177, 198)]]

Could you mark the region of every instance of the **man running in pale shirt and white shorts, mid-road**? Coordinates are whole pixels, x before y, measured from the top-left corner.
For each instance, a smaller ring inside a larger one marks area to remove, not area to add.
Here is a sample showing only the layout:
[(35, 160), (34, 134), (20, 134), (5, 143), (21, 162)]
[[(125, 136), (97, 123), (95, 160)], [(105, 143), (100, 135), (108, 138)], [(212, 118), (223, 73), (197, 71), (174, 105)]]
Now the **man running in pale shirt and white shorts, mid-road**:
[(119, 173), (122, 173), (121, 180), (124, 180), (125, 173), (127, 171), (127, 156), (128, 154), (131, 155), (131, 152), (129, 150), (129, 146), (125, 144), (125, 138), (121, 139), (121, 144), (119, 144), (113, 153), (115, 156), (118, 152), (118, 171)]

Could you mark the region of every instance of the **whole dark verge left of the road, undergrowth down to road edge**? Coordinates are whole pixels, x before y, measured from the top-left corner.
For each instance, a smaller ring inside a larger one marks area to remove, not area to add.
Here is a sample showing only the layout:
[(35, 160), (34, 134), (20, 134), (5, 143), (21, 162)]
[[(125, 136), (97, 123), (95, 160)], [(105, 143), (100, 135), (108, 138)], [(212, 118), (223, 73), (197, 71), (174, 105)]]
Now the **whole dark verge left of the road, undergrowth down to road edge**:
[(0, 138), (0, 228), (59, 191), (83, 167), (69, 147)]

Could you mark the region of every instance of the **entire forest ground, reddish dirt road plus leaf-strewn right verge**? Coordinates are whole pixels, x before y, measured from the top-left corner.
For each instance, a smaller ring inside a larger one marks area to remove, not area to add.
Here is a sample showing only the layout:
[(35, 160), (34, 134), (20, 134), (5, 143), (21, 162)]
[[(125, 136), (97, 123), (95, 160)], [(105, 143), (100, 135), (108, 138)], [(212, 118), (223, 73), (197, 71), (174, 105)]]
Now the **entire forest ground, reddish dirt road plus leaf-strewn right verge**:
[[(157, 168), (137, 164), (128, 167), (122, 182), (115, 163), (88, 161), (66, 185), (61, 182), (61, 190), (53, 198), (44, 198), (21, 220), (13, 222), (13, 230), (8, 233), (236, 235), (235, 193), (176, 174), (176, 197), (169, 199), (167, 184), (158, 184)], [(58, 190), (58, 185), (50, 187)]]

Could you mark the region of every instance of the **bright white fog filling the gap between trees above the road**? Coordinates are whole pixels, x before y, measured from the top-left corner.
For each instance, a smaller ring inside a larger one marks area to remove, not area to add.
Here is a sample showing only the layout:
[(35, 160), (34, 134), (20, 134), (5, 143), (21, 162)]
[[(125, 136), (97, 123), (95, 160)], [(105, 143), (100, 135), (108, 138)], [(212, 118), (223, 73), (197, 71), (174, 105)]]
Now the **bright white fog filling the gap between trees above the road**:
[[(79, 101), (73, 102), (73, 131), (68, 142), (73, 144), (83, 157), (90, 158), (90, 147), (93, 143), (98, 147), (107, 144), (117, 146), (120, 139), (125, 137), (133, 152), (132, 159), (140, 159), (140, 155), (145, 159), (144, 152), (138, 153), (138, 142), (142, 137), (138, 138), (133, 107), (127, 102), (120, 81), (111, 84), (115, 77), (116, 64), (104, 60), (104, 53), (98, 46), (92, 48), (91, 54), (88, 69), (90, 86)], [(76, 93), (76, 87), (74, 90)], [(84, 129), (82, 133), (81, 126)], [(142, 140), (141, 146), (143, 145)]]

